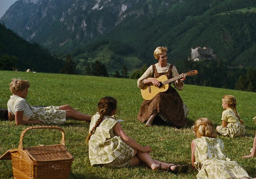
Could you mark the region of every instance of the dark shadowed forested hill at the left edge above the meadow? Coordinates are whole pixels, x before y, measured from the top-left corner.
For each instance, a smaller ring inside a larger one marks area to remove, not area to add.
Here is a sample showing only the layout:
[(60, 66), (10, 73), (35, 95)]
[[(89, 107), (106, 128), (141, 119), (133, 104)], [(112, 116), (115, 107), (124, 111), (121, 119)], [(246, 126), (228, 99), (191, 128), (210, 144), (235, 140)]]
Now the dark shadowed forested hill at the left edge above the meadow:
[(0, 24), (0, 70), (61, 71), (63, 60), (54, 58), (37, 43), (29, 43)]

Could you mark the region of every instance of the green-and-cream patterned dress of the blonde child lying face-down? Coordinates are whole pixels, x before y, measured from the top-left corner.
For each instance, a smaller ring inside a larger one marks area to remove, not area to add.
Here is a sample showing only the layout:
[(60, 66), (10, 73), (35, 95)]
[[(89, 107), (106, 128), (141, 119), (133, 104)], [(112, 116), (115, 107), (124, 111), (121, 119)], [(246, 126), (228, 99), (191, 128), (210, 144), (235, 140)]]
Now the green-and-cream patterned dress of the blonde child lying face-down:
[(194, 165), (199, 171), (197, 179), (252, 179), (242, 166), (226, 157), (222, 140), (202, 136), (193, 141), (196, 145)]

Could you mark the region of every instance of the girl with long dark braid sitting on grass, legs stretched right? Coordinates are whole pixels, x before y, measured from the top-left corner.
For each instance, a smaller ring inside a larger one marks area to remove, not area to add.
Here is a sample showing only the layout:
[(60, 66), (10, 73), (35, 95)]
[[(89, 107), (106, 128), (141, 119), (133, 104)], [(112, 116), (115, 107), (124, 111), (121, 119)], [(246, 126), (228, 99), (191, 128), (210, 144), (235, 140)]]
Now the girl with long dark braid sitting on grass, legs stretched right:
[(92, 118), (90, 132), (86, 138), (89, 143), (89, 159), (91, 166), (121, 168), (136, 166), (145, 162), (152, 170), (169, 170), (175, 173), (186, 172), (188, 166), (153, 160), (149, 154), (150, 146), (141, 146), (126, 135), (115, 117), (117, 100), (104, 97), (98, 103), (99, 112)]

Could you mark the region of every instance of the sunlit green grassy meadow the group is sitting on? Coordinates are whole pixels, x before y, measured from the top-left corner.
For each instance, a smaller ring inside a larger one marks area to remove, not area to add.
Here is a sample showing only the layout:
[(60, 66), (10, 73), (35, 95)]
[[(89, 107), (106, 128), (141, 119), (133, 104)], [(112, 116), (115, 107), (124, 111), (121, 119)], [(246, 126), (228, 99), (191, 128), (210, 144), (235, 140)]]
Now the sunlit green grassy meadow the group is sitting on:
[[(252, 118), (256, 116), (256, 93), (185, 84), (179, 94), (189, 107), (187, 126), (180, 129), (161, 125), (144, 127), (144, 124), (136, 119), (143, 102), (136, 80), (0, 71), (1, 109), (7, 108), (11, 95), (9, 83), (12, 78), (30, 82), (26, 100), (34, 106), (69, 104), (78, 111), (94, 115), (100, 98), (115, 97), (118, 101), (117, 117), (124, 120), (121, 122), (124, 131), (139, 144), (150, 145), (153, 149), (152, 158), (189, 166), (186, 174), (177, 175), (152, 171), (144, 164), (122, 169), (92, 167), (88, 158), (88, 146), (85, 144), (90, 124), (68, 119), (67, 123), (60, 127), (65, 131), (67, 149), (74, 156), (70, 179), (195, 179), (198, 172), (192, 170), (190, 151), (190, 144), (195, 136), (190, 128), (200, 117), (208, 117), (215, 127), (220, 125), (223, 111), (221, 98), (224, 94), (232, 94), (237, 98), (237, 110), (245, 122), (247, 135), (233, 139), (218, 137), (225, 142), (227, 156), (243, 166), (249, 175), (256, 177), (256, 158), (241, 158), (250, 153), (255, 136), (256, 125)], [(27, 127), (16, 126), (14, 121), (0, 121), (0, 155), (9, 149), (18, 148), (20, 134)], [(60, 132), (55, 130), (30, 130), (25, 135), (23, 146), (58, 144), (60, 136)], [(0, 179), (12, 178), (11, 164), (8, 160), (0, 161)]]

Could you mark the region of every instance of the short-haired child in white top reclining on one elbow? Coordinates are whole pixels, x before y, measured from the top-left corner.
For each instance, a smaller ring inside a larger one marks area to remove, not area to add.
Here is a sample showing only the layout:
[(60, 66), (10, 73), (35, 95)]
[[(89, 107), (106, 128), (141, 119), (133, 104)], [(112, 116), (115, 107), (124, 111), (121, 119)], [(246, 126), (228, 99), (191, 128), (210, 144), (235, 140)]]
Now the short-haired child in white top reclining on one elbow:
[(25, 98), (27, 98), (30, 84), (26, 80), (13, 79), (10, 83), (12, 96), (7, 103), (8, 119), (15, 120), (19, 124), (63, 124), (66, 118), (76, 120), (90, 121), (91, 115), (85, 115), (74, 110), (69, 105), (49, 106), (49, 107), (32, 107)]

